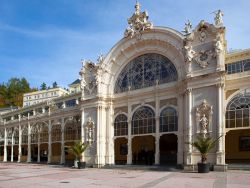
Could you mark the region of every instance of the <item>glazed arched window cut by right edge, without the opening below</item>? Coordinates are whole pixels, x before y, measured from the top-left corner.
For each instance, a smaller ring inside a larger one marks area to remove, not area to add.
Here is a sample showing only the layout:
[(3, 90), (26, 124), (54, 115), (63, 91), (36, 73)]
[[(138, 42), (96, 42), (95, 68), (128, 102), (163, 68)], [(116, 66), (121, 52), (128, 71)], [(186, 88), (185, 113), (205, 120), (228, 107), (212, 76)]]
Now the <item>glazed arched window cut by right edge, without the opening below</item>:
[(237, 94), (227, 105), (226, 128), (250, 126), (250, 89)]

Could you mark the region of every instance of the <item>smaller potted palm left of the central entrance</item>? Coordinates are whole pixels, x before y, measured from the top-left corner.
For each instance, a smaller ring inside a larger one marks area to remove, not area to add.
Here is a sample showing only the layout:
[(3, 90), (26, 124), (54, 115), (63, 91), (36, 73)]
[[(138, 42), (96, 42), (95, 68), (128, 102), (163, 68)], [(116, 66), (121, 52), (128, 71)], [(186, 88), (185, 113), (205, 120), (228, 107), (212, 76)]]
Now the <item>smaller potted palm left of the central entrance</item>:
[(75, 156), (74, 167), (85, 168), (86, 163), (81, 161), (83, 152), (87, 149), (88, 145), (82, 141), (76, 141), (73, 146), (65, 146), (65, 151)]

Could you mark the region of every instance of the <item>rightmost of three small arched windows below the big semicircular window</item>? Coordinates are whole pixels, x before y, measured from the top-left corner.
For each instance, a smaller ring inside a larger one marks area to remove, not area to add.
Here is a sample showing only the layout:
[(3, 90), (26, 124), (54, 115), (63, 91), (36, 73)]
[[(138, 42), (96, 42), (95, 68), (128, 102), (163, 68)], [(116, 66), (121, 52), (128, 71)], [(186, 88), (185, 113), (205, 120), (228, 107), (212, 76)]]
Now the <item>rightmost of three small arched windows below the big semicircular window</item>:
[(178, 131), (177, 112), (172, 107), (162, 110), (160, 116), (160, 132)]

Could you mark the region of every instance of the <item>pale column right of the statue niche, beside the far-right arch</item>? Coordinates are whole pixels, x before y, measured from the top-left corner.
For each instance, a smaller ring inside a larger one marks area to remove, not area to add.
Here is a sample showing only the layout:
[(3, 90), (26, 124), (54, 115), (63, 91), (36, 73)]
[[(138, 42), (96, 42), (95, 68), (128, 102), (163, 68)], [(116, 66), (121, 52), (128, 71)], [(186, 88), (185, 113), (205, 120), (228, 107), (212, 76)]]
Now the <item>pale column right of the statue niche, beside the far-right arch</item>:
[(217, 109), (218, 109), (218, 118), (217, 118), (217, 137), (222, 136), (218, 140), (217, 144), (217, 152), (216, 152), (216, 164), (221, 165), (225, 164), (225, 152), (223, 148), (223, 142), (225, 140), (225, 135), (223, 133), (223, 90), (224, 90), (224, 84), (219, 83), (217, 84), (218, 88), (218, 96), (217, 96)]

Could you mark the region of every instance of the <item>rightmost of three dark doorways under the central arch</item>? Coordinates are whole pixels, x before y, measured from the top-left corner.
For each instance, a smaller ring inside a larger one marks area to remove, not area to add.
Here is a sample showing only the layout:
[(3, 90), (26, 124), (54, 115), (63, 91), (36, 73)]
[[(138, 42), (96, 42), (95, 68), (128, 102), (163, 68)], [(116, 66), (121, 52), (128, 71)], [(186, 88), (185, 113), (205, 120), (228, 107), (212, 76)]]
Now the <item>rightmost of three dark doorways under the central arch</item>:
[(177, 136), (175, 134), (164, 134), (160, 137), (160, 164), (177, 163)]

